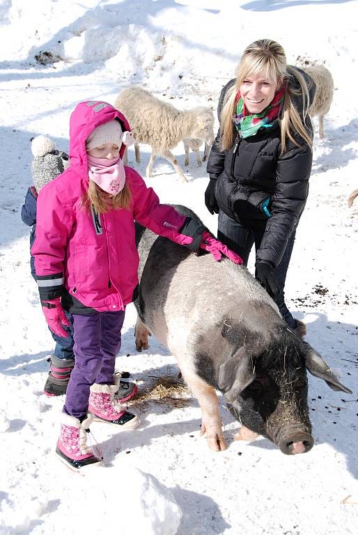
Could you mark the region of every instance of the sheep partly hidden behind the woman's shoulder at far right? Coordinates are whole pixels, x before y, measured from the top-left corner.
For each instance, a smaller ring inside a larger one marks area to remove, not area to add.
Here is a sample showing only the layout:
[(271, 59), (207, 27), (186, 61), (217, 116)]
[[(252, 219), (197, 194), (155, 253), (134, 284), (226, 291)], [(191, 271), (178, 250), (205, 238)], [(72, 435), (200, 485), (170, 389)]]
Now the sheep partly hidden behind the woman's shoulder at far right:
[(304, 67), (304, 71), (311, 76), (316, 84), (316, 94), (309, 107), (311, 117), (318, 115), (319, 134), (323, 137), (323, 116), (328, 113), (332, 104), (334, 82), (331, 73), (323, 65)]

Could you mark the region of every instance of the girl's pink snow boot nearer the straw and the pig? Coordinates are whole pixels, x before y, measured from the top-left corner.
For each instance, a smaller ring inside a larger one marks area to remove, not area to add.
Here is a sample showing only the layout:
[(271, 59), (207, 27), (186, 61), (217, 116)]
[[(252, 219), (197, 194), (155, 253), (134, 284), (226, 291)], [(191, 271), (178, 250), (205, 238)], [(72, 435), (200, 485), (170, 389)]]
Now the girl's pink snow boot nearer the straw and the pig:
[(114, 394), (118, 385), (92, 385), (88, 400), (88, 412), (93, 415), (93, 420), (107, 421), (121, 429), (134, 429), (139, 426), (139, 418), (123, 409)]

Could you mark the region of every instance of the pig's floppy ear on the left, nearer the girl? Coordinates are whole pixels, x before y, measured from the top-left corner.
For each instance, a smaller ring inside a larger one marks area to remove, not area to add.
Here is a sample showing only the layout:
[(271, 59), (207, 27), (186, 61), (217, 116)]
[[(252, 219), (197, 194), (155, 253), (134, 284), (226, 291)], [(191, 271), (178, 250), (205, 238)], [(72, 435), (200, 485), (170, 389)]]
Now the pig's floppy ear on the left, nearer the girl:
[(256, 375), (251, 357), (244, 346), (219, 366), (219, 389), (224, 391), (228, 403), (233, 403), (240, 392), (251, 385)]

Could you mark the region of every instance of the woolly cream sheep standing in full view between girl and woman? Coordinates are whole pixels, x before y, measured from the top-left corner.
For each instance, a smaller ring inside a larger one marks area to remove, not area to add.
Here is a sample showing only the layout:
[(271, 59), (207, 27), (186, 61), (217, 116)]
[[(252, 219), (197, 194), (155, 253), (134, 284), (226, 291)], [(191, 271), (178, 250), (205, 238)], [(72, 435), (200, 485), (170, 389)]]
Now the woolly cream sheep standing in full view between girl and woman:
[(130, 123), (136, 139), (134, 150), (137, 163), (141, 161), (139, 143), (152, 147), (146, 169), (148, 178), (153, 176), (153, 163), (155, 157), (160, 155), (173, 164), (182, 182), (187, 182), (171, 149), (184, 139), (201, 139), (208, 146), (214, 141), (214, 114), (211, 108), (200, 106), (180, 111), (138, 86), (120, 91), (114, 107), (122, 111)]

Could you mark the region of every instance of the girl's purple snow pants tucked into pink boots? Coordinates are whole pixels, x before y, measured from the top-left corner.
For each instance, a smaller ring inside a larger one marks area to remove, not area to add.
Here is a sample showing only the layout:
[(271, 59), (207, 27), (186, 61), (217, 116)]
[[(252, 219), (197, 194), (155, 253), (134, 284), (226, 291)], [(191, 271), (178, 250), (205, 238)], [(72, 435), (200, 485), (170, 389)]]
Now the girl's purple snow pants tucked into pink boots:
[(124, 316), (123, 310), (96, 312), (91, 316), (73, 314), (75, 368), (68, 382), (63, 412), (84, 419), (91, 385), (113, 385)]

